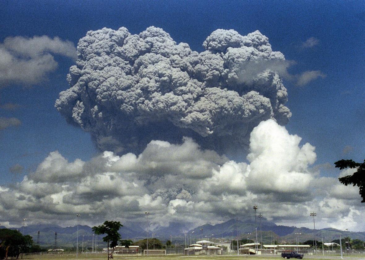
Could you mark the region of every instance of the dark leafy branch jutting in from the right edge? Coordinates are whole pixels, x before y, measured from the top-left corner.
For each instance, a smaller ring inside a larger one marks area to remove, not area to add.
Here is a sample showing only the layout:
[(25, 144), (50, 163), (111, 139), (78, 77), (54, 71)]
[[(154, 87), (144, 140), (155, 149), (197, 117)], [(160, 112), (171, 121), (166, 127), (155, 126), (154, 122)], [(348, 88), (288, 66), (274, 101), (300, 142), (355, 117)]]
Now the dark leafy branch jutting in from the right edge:
[(335, 162), (335, 167), (342, 169), (350, 168), (357, 169), (352, 175), (338, 178), (338, 180), (345, 186), (352, 184), (359, 187), (359, 194), (362, 198), (361, 203), (365, 202), (365, 160), (362, 164), (354, 162), (353, 160), (340, 160)]

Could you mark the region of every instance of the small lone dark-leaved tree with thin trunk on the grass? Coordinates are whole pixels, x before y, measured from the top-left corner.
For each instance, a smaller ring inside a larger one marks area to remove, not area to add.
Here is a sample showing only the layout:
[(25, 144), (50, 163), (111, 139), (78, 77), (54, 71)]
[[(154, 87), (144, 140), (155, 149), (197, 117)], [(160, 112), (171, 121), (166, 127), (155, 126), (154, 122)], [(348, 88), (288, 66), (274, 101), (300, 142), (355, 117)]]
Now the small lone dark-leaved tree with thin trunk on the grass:
[[(103, 225), (92, 227), (92, 231), (96, 235), (107, 234), (105, 237), (103, 237), (103, 241), (108, 244), (108, 260), (110, 254), (114, 252), (115, 247), (118, 245), (120, 241), (120, 234), (118, 231), (122, 226), (123, 225), (120, 224), (119, 221), (105, 221)], [(109, 254), (109, 247), (113, 248), (113, 251), (110, 254)]]

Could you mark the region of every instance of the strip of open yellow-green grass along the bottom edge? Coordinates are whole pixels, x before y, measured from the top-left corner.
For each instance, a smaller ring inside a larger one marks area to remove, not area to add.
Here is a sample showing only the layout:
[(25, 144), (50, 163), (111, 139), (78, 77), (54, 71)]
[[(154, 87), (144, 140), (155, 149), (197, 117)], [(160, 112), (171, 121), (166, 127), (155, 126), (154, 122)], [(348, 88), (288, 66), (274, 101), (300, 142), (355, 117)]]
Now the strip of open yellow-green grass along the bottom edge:
[[(76, 254), (59, 254), (59, 255), (49, 255), (49, 254), (45, 254), (45, 255), (27, 255), (27, 256), (23, 256), (23, 259), (40, 259), (40, 260), (65, 260), (65, 259), (77, 259), (77, 260), (89, 260), (89, 259), (103, 259), (106, 260), (107, 259), (107, 254), (88, 254), (86, 255), (78, 255), (78, 257), (76, 257)], [(114, 259), (115, 260), (123, 260), (123, 259), (128, 259), (128, 260), (138, 260), (138, 259), (150, 259), (150, 260), (199, 260), (199, 259), (203, 259), (203, 260), (223, 260), (223, 259), (230, 259), (230, 260), (280, 260), (283, 259), (280, 256), (237, 256), (237, 255), (224, 255), (224, 256), (116, 256), (114, 255)], [(341, 256), (322, 256), (322, 255), (317, 255), (317, 256), (304, 256), (303, 259), (313, 259), (313, 260), (318, 260), (318, 259), (326, 259), (326, 260), (331, 260), (331, 259), (341, 259)], [(353, 256), (343, 256), (343, 259), (346, 260), (365, 260), (365, 255), (353, 255)]]

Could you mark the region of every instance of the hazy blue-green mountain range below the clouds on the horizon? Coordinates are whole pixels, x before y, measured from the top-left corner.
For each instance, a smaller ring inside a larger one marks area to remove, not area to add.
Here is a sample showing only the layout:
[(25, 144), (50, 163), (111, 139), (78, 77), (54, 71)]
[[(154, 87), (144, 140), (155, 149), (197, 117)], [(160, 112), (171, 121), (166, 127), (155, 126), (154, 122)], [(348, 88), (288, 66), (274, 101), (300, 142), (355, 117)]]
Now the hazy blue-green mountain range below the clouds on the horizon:
[[(120, 234), (122, 235), (123, 239), (131, 239), (133, 241), (137, 241), (139, 239), (146, 238), (147, 232), (141, 226), (128, 223), (123, 225), (124, 226), (120, 229)], [(257, 237), (260, 243), (260, 222), (257, 223), (257, 226)], [(0, 228), (5, 227), (0, 226)], [(36, 243), (38, 240), (37, 231), (39, 231), (39, 244), (42, 247), (50, 248), (53, 248), (55, 245), (54, 233), (57, 232), (57, 247), (76, 247), (77, 226), (68, 226), (63, 228), (58, 225), (38, 224), (11, 229), (19, 229), (20, 232), (31, 235)], [(273, 240), (275, 240), (275, 244), (295, 244), (297, 236), (295, 235), (295, 233), (301, 233), (301, 235), (298, 235), (299, 241), (301, 242), (306, 240), (312, 240), (314, 235), (313, 230), (310, 228), (297, 228), (295, 226), (276, 225), (275, 223), (269, 221), (262, 221), (261, 229), (262, 241), (264, 244), (272, 244)], [(223, 237), (224, 239), (228, 240), (237, 239), (237, 230), (239, 239), (254, 240), (254, 237), (256, 236), (254, 221), (240, 221), (231, 219), (220, 224), (205, 224), (202, 226), (198, 226), (194, 229), (189, 229), (188, 226), (181, 226), (178, 223), (170, 223), (168, 227), (149, 230), (149, 237), (151, 237), (151, 233), (154, 232), (156, 233), (156, 238), (160, 239), (163, 242), (170, 239), (170, 236), (172, 236), (173, 244), (184, 244), (185, 232), (187, 233), (188, 237), (191, 237), (192, 241), (194, 239), (195, 241), (208, 238), (211, 239), (212, 237)], [(82, 240), (84, 241), (84, 247), (92, 247), (93, 232), (90, 226), (78, 225), (78, 235), (79, 248), (82, 245)], [(363, 241), (365, 240), (365, 232), (341, 231), (334, 228), (323, 228), (315, 231), (316, 240), (321, 241), (321, 239), (323, 238), (324, 243), (339, 239), (340, 235), (341, 237), (349, 236), (351, 237), (351, 239), (361, 239)], [(105, 246), (102, 242), (102, 237), (103, 236), (98, 237), (99, 247)]]

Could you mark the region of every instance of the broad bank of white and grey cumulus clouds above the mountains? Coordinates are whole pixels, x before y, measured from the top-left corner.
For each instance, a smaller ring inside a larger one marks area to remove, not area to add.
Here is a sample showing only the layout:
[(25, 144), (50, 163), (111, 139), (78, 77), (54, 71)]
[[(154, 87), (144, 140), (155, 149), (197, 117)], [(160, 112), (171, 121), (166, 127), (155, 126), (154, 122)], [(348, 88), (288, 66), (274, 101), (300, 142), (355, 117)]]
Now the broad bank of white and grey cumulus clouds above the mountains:
[(309, 213), (316, 211), (319, 227), (351, 220), (362, 228), (356, 187), (318, 177), (311, 168), (314, 147), (300, 141), (269, 119), (251, 132), (247, 162), (228, 160), (191, 138), (151, 141), (138, 155), (105, 151), (85, 162), (69, 162), (55, 151), (23, 181), (0, 187), (0, 210), (11, 223), (27, 216), (30, 223), (65, 224), (70, 214), (82, 213), (89, 225), (116, 217), (143, 222), (149, 210), (158, 228), (250, 216), (256, 203), (277, 224), (310, 226)]

